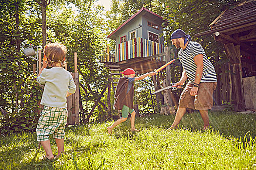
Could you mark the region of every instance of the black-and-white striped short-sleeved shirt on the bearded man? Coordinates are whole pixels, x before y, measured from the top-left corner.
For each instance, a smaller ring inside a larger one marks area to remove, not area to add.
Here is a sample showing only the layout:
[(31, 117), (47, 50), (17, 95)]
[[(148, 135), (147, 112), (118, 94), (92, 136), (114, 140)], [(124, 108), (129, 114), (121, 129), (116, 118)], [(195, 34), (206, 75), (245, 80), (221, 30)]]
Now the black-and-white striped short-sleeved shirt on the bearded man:
[(197, 42), (189, 41), (186, 49), (181, 48), (178, 52), (178, 58), (186, 71), (189, 83), (195, 83), (197, 65), (194, 57), (198, 54), (203, 54), (203, 74), (200, 83), (217, 82), (214, 66), (207, 58), (202, 46)]

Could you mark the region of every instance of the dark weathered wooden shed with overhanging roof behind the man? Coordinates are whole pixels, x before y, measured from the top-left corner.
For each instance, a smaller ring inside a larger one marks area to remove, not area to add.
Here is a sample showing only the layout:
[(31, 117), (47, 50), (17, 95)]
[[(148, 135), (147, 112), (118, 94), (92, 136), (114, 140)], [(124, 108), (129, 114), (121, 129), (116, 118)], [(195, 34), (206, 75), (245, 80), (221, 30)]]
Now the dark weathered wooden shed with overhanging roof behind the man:
[[(209, 26), (211, 30), (195, 36), (214, 34), (214, 39), (224, 44), (229, 59), (216, 70), (216, 102), (231, 101), (237, 111), (256, 110), (256, 0), (227, 8)], [(225, 71), (227, 76), (220, 74)]]

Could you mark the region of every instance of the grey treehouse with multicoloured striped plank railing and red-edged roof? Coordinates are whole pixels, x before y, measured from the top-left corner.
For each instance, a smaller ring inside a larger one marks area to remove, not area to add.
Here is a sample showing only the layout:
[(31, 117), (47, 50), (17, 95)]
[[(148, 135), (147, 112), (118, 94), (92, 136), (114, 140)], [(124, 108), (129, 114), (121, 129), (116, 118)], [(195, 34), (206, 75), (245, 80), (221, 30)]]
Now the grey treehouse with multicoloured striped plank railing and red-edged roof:
[(134, 68), (139, 74), (165, 64), (164, 56), (158, 57), (164, 52), (162, 21), (162, 17), (141, 8), (108, 36), (116, 40), (116, 46), (114, 56), (107, 51), (104, 62), (114, 62), (121, 70)]

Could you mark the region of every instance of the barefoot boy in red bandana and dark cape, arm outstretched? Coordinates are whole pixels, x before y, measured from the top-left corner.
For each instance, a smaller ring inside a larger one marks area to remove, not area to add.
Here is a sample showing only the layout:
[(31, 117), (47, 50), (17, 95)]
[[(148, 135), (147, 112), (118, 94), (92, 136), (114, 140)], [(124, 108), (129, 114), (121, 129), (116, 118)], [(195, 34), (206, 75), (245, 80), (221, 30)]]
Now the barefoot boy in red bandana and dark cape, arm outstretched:
[(143, 74), (138, 78), (135, 77), (135, 71), (133, 68), (125, 69), (122, 74), (123, 77), (120, 77), (118, 80), (117, 90), (115, 93), (115, 102), (114, 102), (114, 110), (118, 109), (122, 111), (122, 117), (115, 121), (111, 126), (107, 127), (108, 134), (112, 133), (114, 127), (118, 124), (124, 122), (128, 118), (128, 113), (131, 114), (131, 131), (138, 132), (139, 130), (135, 129), (134, 122), (135, 122), (135, 111), (133, 109), (133, 96), (134, 96), (134, 88), (133, 83), (134, 81), (142, 80), (145, 77), (153, 76), (156, 73), (154, 71), (150, 73)]

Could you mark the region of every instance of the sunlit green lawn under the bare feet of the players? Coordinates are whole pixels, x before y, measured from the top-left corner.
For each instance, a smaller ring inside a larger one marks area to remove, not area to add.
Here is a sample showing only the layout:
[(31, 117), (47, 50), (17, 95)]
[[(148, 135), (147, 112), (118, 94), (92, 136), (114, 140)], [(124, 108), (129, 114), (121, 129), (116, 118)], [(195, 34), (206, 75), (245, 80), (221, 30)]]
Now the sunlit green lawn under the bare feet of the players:
[[(181, 128), (166, 132), (174, 116), (136, 119), (138, 133), (130, 133), (130, 121), (109, 136), (111, 122), (66, 128), (66, 154), (55, 161), (39, 160), (36, 134), (0, 138), (0, 169), (72, 170), (256, 170), (256, 114), (210, 113), (212, 129), (203, 126), (198, 113), (186, 114)], [(246, 136), (246, 137), (244, 137)], [(58, 152), (51, 136), (54, 153)]]

